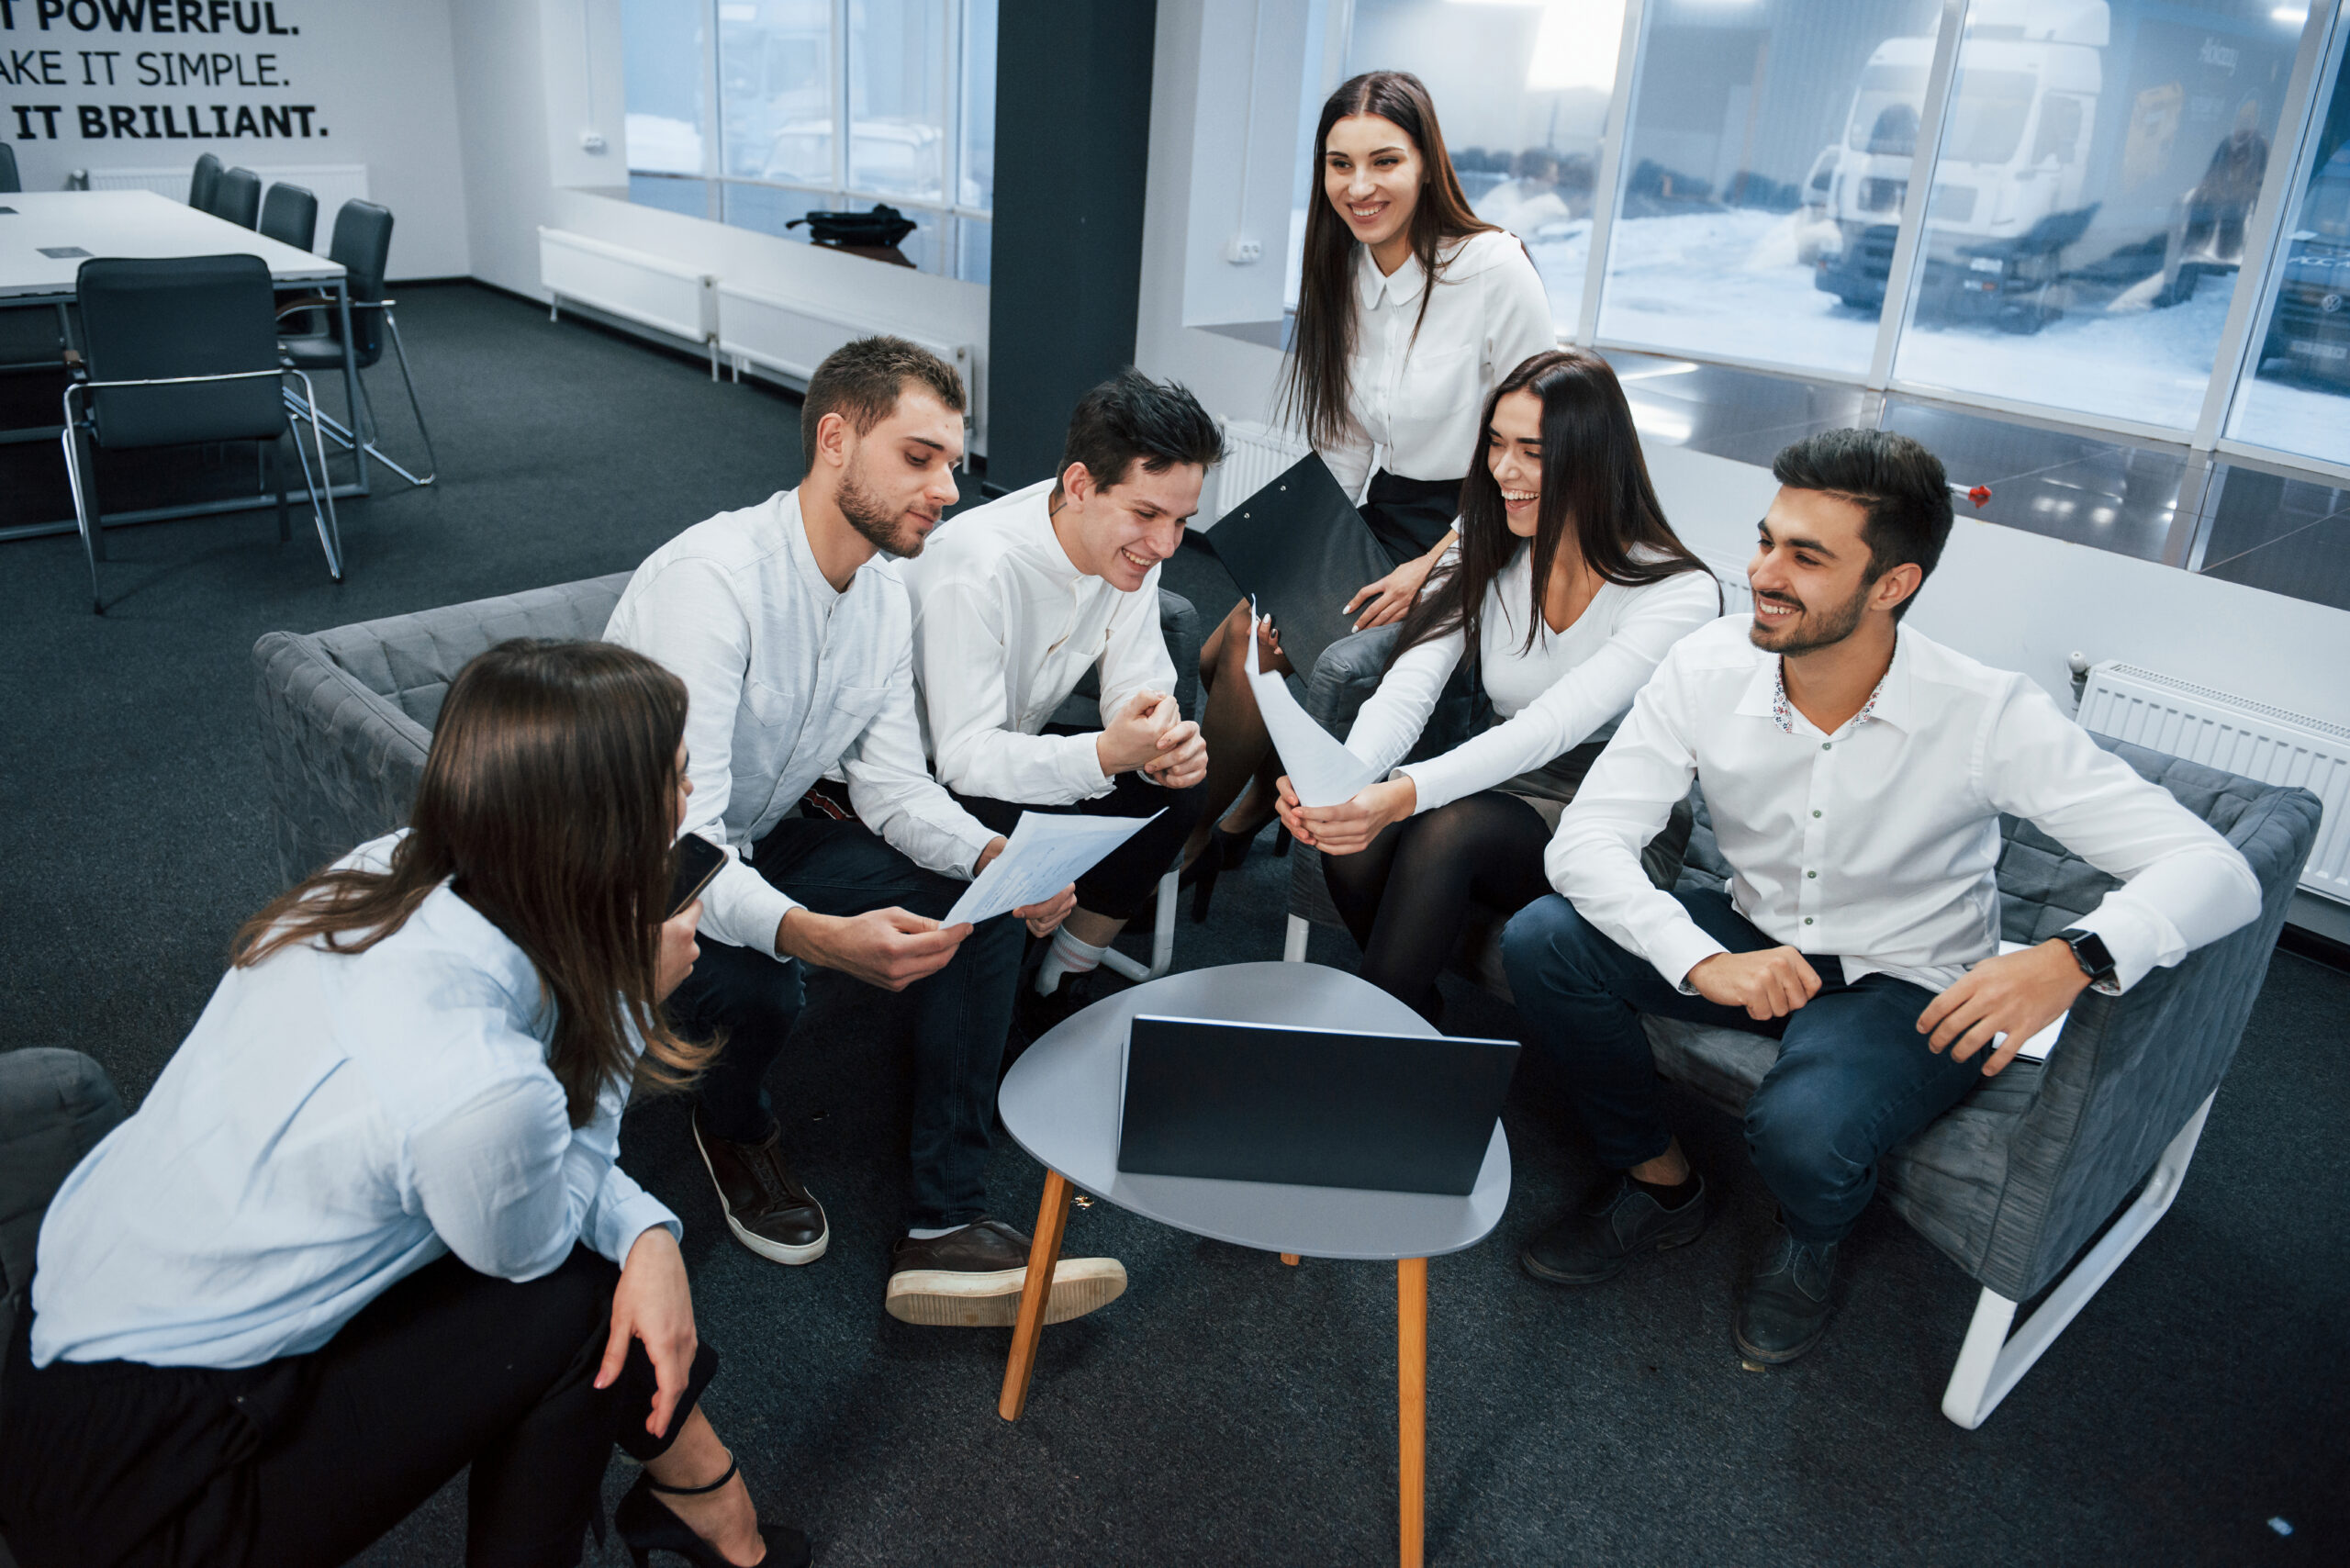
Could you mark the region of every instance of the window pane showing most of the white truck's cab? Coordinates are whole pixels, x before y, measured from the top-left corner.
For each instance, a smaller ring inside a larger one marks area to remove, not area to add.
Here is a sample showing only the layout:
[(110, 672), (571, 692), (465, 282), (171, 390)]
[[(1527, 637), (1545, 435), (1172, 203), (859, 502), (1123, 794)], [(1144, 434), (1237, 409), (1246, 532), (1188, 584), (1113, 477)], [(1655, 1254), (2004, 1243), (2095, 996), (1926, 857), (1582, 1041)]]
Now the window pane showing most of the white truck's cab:
[(2305, 21), (1974, 0), (1894, 376), (2193, 430)]

